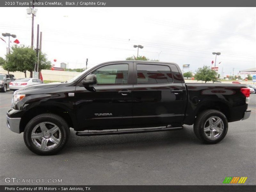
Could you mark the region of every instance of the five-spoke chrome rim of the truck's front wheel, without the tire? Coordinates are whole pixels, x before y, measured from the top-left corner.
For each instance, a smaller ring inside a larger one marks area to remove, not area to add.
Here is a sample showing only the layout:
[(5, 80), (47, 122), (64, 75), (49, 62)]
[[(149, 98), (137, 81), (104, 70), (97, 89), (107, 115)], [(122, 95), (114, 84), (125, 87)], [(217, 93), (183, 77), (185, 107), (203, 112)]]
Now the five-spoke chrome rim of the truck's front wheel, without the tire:
[(53, 149), (60, 143), (60, 128), (50, 122), (39, 123), (33, 128), (31, 139), (37, 148), (44, 150)]

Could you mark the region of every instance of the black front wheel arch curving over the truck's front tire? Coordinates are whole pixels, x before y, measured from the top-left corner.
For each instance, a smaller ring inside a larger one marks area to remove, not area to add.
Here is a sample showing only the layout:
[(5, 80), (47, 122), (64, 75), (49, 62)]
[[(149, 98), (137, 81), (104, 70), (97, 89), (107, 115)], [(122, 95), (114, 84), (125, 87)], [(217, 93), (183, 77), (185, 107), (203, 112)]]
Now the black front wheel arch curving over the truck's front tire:
[(68, 112), (60, 107), (56, 106), (37, 106), (35, 108), (29, 109), (21, 118), (20, 121), (20, 132), (24, 132), (24, 129), (28, 122), (33, 119), (35, 116), (44, 114), (44, 113), (51, 113), (62, 117), (68, 124), (69, 127), (74, 128), (74, 121), (72, 120), (71, 116)]

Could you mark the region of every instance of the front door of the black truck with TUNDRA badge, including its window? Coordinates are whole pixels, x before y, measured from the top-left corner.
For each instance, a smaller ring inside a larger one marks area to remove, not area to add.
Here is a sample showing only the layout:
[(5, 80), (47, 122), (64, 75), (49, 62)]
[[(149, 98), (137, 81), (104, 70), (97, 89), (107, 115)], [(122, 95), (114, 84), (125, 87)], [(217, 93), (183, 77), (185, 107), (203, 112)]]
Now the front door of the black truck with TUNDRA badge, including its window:
[(105, 65), (92, 71), (95, 92), (76, 86), (77, 121), (81, 129), (105, 129), (132, 124), (132, 62)]

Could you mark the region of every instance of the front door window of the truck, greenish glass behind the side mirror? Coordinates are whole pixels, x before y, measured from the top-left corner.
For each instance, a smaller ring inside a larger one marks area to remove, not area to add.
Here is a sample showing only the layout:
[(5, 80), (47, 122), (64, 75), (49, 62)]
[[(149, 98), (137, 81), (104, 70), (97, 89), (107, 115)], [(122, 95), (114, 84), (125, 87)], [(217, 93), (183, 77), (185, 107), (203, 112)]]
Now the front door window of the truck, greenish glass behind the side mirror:
[(97, 69), (92, 74), (97, 76), (97, 84), (127, 84), (128, 64), (108, 65)]

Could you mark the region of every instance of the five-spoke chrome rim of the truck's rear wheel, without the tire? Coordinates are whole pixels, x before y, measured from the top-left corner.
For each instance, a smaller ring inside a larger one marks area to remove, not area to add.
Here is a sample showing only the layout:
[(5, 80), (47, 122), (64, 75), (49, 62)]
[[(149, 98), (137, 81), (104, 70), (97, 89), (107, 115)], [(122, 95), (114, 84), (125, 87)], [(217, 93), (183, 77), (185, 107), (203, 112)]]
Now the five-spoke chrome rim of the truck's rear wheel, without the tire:
[(204, 134), (208, 139), (216, 140), (224, 131), (224, 123), (220, 117), (212, 116), (204, 124)]

